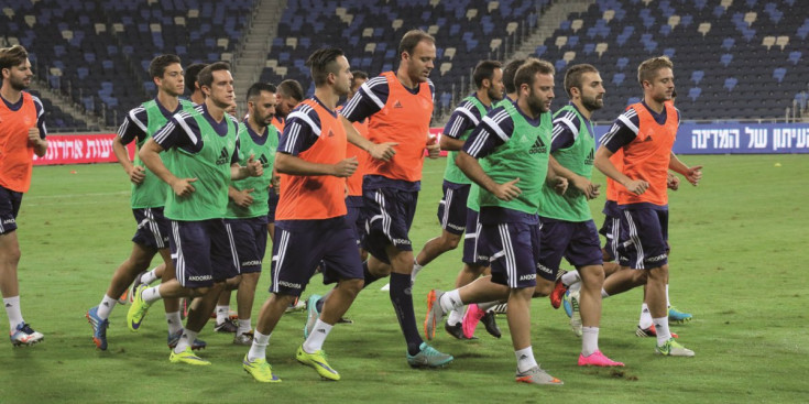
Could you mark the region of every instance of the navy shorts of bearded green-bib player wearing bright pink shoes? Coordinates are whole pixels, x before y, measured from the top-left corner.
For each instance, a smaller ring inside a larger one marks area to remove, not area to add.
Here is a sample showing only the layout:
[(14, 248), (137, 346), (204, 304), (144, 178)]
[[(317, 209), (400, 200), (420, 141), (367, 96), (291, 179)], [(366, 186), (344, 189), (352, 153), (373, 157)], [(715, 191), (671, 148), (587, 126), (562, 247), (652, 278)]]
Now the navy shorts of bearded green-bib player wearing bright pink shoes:
[(573, 266), (603, 264), (595, 222), (564, 221), (539, 218), (543, 222), (542, 251), (537, 273), (550, 274), (554, 280), (562, 256)]

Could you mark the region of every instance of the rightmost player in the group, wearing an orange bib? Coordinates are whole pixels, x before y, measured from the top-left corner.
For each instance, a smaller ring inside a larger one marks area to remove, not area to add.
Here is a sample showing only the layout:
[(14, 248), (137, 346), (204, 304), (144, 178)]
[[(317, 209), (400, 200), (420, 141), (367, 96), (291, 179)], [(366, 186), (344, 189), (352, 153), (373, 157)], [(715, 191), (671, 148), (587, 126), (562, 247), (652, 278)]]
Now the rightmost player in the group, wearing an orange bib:
[[(695, 185), (702, 175), (700, 166), (689, 167), (671, 159), (679, 125), (679, 111), (666, 102), (675, 88), (673, 68), (674, 64), (666, 56), (641, 63), (637, 80), (644, 90), (643, 101), (630, 106), (615, 120), (601, 140), (594, 164), (620, 185), (621, 233), (627, 234), (621, 263), (645, 274), (646, 302), (657, 334), (655, 351), (664, 356), (692, 357), (692, 350), (671, 337), (666, 309), (667, 173), (670, 167)], [(617, 151), (623, 152), (621, 171), (610, 162)]]

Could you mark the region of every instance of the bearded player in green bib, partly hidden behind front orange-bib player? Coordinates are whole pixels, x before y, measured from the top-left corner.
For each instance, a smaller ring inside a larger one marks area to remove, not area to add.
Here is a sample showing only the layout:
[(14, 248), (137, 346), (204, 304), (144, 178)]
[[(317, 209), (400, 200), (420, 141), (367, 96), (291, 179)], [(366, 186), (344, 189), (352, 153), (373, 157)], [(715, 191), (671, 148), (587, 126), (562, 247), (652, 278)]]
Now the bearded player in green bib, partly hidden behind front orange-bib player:
[[(248, 119), (239, 125), (239, 164), (247, 164), (249, 156), (254, 155), (264, 172), (260, 177), (233, 182), (228, 189), (225, 228), (233, 240), (230, 244), (233, 264), (241, 275), (236, 295), (239, 320), (233, 343), (237, 345), (250, 345), (253, 341), (250, 316), (266, 249), (266, 216), (270, 210), (267, 189), (278, 146), (278, 133), (272, 125), (275, 86), (255, 83), (248, 89), (247, 98)], [(228, 306), (225, 312), (227, 314)]]

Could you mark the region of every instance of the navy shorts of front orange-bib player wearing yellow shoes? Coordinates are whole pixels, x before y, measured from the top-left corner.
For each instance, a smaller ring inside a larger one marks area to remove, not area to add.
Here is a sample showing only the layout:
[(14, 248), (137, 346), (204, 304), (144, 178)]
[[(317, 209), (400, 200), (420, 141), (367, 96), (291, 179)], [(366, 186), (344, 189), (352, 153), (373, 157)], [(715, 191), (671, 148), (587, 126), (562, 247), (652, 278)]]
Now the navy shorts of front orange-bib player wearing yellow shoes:
[(364, 277), (353, 230), (345, 216), (277, 222), (270, 292), (300, 296), (321, 261), (324, 283)]

